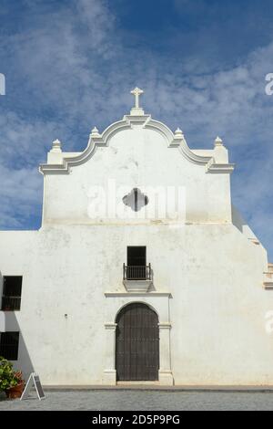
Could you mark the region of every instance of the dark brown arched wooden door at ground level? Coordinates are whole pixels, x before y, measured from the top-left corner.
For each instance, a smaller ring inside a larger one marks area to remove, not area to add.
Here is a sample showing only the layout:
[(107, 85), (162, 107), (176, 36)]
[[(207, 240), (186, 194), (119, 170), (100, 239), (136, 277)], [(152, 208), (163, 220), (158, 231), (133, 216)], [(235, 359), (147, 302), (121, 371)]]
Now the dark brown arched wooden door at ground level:
[(159, 329), (155, 311), (145, 304), (129, 304), (118, 313), (116, 324), (116, 380), (158, 380)]

